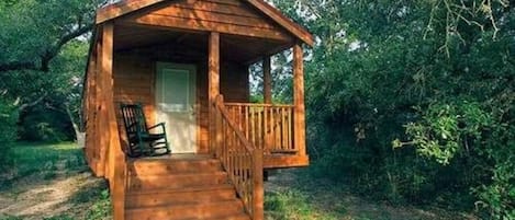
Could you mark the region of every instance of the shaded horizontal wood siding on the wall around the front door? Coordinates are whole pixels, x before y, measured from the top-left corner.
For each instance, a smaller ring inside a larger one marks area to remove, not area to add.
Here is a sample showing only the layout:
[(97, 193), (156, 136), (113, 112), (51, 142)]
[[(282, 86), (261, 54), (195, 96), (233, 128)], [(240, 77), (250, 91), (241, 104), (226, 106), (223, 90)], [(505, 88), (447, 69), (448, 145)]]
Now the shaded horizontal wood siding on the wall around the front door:
[[(155, 115), (155, 78), (156, 63), (179, 62), (165, 56), (138, 56), (135, 54), (114, 56), (114, 104), (142, 103), (146, 119), (156, 124)], [(200, 60), (191, 62), (198, 68), (197, 76), (197, 144), (199, 153), (209, 153), (209, 97), (208, 97), (208, 63)], [(248, 102), (249, 84), (248, 69), (232, 62), (224, 62), (221, 67), (221, 92), (227, 102)], [(120, 113), (116, 113), (119, 129), (122, 134), (124, 148), (125, 128)]]

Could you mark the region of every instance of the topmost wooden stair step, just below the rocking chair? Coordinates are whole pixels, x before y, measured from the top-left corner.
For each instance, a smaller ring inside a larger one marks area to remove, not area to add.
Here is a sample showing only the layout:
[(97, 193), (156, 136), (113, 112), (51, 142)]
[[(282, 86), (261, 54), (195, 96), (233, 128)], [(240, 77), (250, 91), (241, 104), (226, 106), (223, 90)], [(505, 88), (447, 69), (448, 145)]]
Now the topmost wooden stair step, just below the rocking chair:
[(128, 164), (131, 175), (161, 175), (223, 171), (222, 163), (215, 159), (203, 160), (137, 160)]

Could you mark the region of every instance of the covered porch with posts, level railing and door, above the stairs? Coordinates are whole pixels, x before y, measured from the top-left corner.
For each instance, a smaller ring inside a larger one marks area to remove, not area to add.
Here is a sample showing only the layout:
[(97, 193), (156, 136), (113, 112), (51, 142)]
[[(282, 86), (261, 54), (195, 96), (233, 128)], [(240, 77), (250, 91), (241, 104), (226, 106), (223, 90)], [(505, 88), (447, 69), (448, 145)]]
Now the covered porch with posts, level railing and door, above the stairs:
[[(130, 16), (102, 26), (103, 30), (112, 28), (115, 107), (121, 103), (142, 103), (149, 124), (167, 124), (172, 153), (205, 154), (213, 152), (210, 103), (217, 95), (223, 95), (226, 111), (238, 129), (256, 148), (264, 150), (266, 169), (309, 164), (304, 138), (303, 51), (300, 43), (292, 42), (287, 35), (267, 38), (248, 36), (255, 35), (251, 32), (236, 35), (179, 30), (166, 27), (163, 23), (155, 25), (138, 21)], [(99, 37), (103, 40), (109, 36)], [(98, 49), (102, 47), (100, 40)], [(293, 103), (277, 105), (271, 102), (270, 57), (291, 47), (294, 48)], [(249, 103), (249, 66), (256, 62), (262, 62), (264, 67), (265, 102), (261, 104)], [(184, 88), (184, 82), (164, 82), (160, 74), (164, 66), (191, 69), (186, 82), (189, 85)], [(180, 92), (177, 88), (189, 90), (189, 94), (177, 93)], [(164, 93), (168, 97), (161, 97)], [(181, 95), (184, 97), (178, 97)], [(177, 118), (163, 117), (167, 114), (163, 105), (178, 107), (171, 111)], [(126, 148), (119, 111), (116, 118), (122, 148)]]

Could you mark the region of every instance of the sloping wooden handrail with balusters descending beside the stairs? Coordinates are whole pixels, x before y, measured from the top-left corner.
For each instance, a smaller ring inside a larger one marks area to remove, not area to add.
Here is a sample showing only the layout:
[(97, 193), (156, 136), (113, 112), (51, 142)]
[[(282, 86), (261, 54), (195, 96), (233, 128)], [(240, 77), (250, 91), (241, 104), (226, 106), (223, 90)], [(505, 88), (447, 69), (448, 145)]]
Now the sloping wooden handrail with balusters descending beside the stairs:
[(212, 103), (213, 153), (222, 161), (253, 220), (264, 219), (262, 150), (248, 141), (225, 108), (223, 96)]

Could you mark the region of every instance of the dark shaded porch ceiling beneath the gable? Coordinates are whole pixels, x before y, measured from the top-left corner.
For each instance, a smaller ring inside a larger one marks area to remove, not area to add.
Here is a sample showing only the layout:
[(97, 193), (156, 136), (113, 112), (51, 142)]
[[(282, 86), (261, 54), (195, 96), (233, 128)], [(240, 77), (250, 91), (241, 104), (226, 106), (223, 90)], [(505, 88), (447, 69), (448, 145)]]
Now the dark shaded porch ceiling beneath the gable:
[[(114, 28), (114, 50), (138, 50), (149, 47), (180, 48), (190, 54), (208, 57), (208, 33), (182, 30), (155, 28), (147, 26), (126, 26), (116, 24)], [(171, 47), (170, 47), (171, 46)], [(222, 59), (240, 63), (251, 63), (264, 56), (277, 54), (291, 45), (283, 42), (237, 35), (221, 35)], [(166, 51), (159, 51), (166, 53)]]

